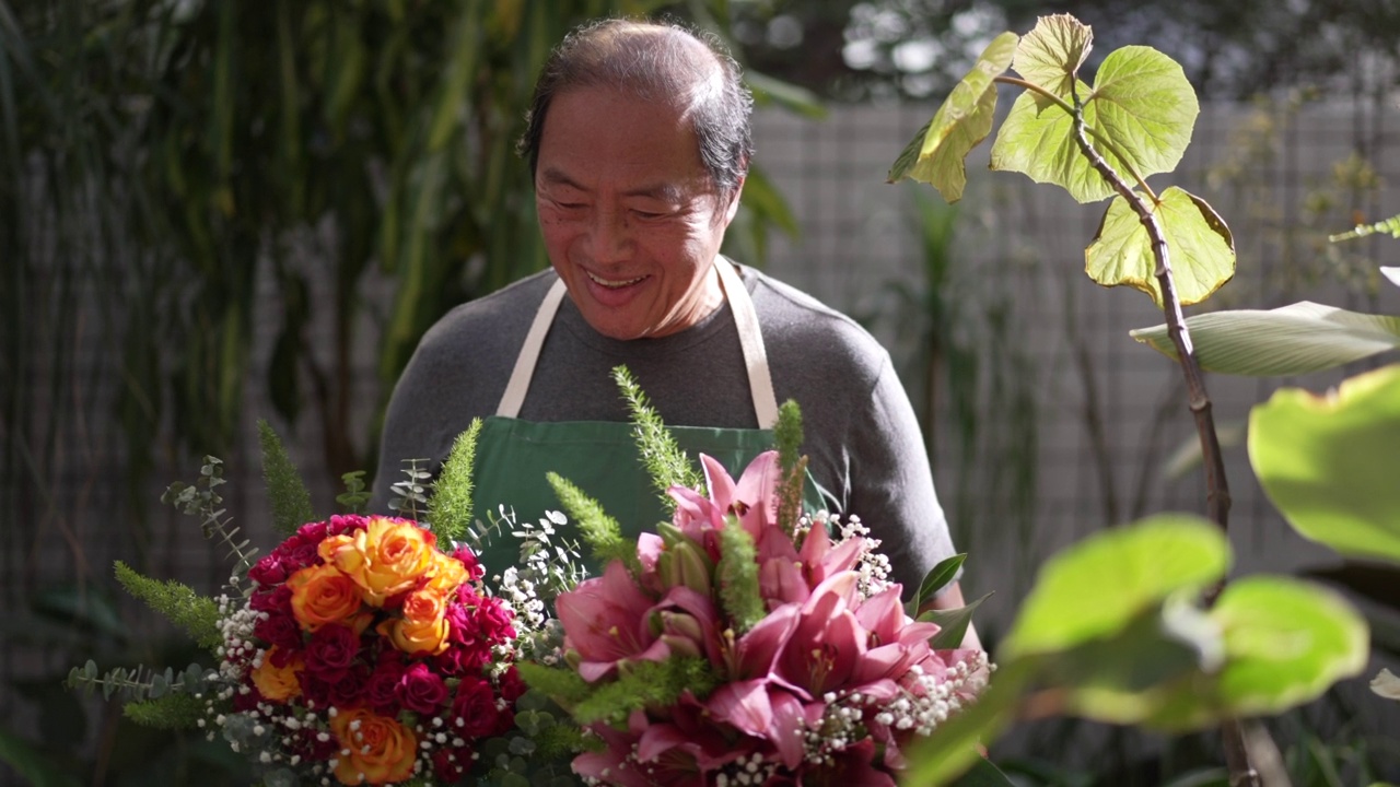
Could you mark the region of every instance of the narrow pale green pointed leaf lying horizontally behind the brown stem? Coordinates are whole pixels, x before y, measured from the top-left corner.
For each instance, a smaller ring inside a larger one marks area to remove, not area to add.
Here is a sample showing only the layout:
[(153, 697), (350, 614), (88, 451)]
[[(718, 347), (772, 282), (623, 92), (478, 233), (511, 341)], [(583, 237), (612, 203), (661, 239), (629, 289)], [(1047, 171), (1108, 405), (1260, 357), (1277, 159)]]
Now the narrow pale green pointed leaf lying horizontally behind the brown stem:
[[(1310, 301), (1198, 314), (1186, 319), (1186, 328), (1201, 368), (1250, 377), (1322, 371), (1400, 347), (1400, 318)], [(1140, 328), (1130, 336), (1176, 357), (1166, 325)]]

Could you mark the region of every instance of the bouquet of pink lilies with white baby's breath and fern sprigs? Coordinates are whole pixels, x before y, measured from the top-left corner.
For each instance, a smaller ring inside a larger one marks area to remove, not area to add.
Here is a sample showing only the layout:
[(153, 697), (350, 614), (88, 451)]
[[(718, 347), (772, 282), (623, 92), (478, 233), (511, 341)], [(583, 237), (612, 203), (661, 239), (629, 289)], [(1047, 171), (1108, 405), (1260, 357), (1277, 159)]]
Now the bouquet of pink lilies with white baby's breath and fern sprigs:
[(801, 464), (770, 451), (738, 482), (701, 464), (707, 496), (669, 487), (669, 525), (559, 595), (567, 667), (522, 665), (596, 737), (574, 770), (626, 787), (893, 786), (904, 746), (976, 699), (986, 654), (906, 613), (858, 520), (791, 514)]

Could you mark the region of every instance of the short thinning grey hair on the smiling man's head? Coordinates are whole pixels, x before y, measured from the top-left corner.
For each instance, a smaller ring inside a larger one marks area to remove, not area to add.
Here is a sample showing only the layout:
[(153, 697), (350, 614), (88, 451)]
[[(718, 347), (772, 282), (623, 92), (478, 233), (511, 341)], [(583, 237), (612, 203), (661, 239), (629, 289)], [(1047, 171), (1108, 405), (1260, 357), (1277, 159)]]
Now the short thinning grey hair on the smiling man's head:
[(529, 161), (532, 178), (550, 104), (561, 92), (587, 87), (678, 106), (690, 120), (700, 161), (720, 193), (729, 197), (743, 182), (753, 155), (753, 94), (714, 34), (676, 22), (622, 18), (570, 32), (545, 62), (525, 116), (518, 150)]

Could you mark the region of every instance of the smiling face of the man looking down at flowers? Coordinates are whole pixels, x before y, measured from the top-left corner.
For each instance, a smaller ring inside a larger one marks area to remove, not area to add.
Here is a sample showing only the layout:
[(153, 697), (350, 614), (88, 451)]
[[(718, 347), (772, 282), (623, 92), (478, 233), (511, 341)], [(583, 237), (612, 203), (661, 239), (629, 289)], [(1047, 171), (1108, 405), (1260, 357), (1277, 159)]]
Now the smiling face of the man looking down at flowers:
[(738, 189), (721, 202), (676, 109), (609, 88), (554, 97), (535, 203), (549, 260), (594, 330), (665, 336), (707, 316), (738, 202)]

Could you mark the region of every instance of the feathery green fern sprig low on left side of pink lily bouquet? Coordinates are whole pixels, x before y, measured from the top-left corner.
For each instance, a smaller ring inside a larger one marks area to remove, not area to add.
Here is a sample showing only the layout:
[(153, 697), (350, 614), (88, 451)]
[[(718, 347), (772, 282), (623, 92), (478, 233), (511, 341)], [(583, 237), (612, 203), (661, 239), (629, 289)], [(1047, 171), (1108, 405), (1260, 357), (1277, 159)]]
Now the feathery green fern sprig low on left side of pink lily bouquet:
[(574, 706), (574, 718), (580, 724), (620, 724), (633, 710), (675, 704), (687, 690), (706, 697), (721, 683), (714, 667), (701, 657), (637, 661), (627, 664), (620, 672), (617, 681), (601, 685)]

